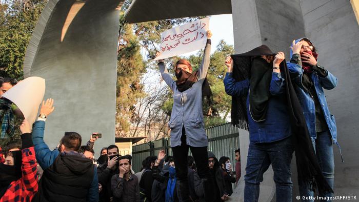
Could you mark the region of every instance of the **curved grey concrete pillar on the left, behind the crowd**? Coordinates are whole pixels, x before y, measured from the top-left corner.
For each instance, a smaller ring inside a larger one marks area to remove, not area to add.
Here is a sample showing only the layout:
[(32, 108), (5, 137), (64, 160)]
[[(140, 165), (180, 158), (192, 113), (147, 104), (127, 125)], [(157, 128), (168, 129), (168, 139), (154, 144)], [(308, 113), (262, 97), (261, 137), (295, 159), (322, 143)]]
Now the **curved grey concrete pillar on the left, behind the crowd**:
[(45, 98), (55, 111), (46, 121), (50, 149), (65, 131), (76, 131), (86, 144), (101, 132), (95, 155), (114, 144), (117, 36), (120, 0), (89, 0), (79, 10), (61, 42), (67, 14), (75, 1), (50, 0), (27, 48), (24, 72), (46, 79)]

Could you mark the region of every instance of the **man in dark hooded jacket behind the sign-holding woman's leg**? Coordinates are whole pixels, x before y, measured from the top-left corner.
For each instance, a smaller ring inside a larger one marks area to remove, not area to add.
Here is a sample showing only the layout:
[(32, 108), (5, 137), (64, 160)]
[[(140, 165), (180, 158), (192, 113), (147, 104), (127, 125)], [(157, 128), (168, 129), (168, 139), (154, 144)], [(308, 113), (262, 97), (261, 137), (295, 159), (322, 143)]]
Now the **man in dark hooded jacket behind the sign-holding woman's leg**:
[[(222, 170), (218, 159), (215, 157), (213, 152), (208, 151), (208, 168), (211, 177), (214, 179), (214, 190), (211, 194), (212, 201), (226, 201), (229, 199), (229, 195), (225, 189), (225, 181), (223, 179)], [(203, 180), (201, 180), (198, 172), (194, 173), (194, 190), (200, 201), (207, 201), (206, 193), (204, 192)]]

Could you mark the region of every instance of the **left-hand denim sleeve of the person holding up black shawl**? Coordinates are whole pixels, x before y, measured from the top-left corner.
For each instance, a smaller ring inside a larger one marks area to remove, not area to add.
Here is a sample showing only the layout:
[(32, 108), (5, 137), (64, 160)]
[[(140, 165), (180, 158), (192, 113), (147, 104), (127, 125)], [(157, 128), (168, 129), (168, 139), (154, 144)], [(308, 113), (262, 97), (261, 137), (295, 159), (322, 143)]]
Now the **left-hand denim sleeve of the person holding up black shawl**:
[(232, 72), (227, 72), (226, 77), (223, 80), (225, 85), (225, 91), (231, 96), (243, 96), (248, 94), (249, 80), (248, 78), (241, 82), (235, 82)]

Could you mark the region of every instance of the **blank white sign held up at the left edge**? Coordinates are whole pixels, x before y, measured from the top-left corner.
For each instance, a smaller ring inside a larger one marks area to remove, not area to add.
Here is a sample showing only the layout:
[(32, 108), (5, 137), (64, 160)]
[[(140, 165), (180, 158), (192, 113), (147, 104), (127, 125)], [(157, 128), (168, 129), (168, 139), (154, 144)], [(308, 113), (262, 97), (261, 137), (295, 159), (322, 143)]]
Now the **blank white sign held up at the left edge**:
[(3, 97), (9, 99), (20, 109), (32, 127), (44, 94), (45, 79), (31, 76), (6, 91)]

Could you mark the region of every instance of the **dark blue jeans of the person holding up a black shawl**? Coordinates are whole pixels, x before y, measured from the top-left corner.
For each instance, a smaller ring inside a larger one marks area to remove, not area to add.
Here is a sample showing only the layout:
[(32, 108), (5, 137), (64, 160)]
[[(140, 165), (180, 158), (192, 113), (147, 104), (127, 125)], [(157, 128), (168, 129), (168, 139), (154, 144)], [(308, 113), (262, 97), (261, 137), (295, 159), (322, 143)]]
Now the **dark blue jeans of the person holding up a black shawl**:
[(258, 201), (263, 174), (272, 164), (276, 188), (276, 201), (292, 201), (292, 138), (273, 143), (249, 144), (244, 188), (244, 201)]

